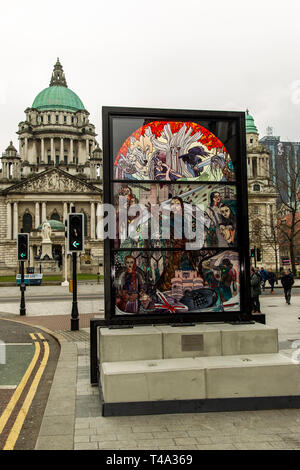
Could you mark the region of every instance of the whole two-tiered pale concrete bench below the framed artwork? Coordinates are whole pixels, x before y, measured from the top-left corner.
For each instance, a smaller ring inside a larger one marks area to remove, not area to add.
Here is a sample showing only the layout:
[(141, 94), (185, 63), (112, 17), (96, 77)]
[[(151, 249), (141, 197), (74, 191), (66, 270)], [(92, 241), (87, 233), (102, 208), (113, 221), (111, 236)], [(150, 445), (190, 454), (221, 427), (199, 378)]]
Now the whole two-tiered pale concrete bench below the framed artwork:
[(124, 414), (126, 403), (138, 414), (148, 406), (149, 414), (160, 401), (165, 412), (178, 402), (179, 412), (191, 401), (196, 409), (213, 402), (214, 409), (216, 399), (224, 406), (230, 405), (222, 400), (246, 399), (251, 409), (266, 406), (268, 397), (277, 397), (281, 407), (284, 400), (298, 406), (300, 399), (299, 365), (278, 353), (278, 330), (261, 324), (100, 327), (98, 359), (103, 406), (116, 414)]

